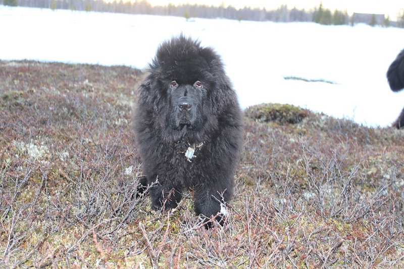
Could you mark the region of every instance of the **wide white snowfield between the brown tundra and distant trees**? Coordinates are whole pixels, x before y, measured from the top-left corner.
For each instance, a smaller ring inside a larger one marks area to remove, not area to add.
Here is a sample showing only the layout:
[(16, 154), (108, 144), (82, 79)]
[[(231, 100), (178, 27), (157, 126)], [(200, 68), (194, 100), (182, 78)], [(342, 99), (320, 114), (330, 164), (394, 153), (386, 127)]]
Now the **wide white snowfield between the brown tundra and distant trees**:
[[(404, 91), (393, 93), (386, 79), (402, 50), (402, 28), (199, 18), (190, 23), (181, 17), (5, 6), (0, 21), (7, 25), (2, 36), (13, 37), (0, 43), (4, 60), (144, 69), (163, 40), (183, 33), (222, 56), (242, 108), (292, 104), (384, 127), (404, 106)], [(27, 40), (35, 42), (27, 46)], [(337, 84), (304, 81), (311, 79)]]

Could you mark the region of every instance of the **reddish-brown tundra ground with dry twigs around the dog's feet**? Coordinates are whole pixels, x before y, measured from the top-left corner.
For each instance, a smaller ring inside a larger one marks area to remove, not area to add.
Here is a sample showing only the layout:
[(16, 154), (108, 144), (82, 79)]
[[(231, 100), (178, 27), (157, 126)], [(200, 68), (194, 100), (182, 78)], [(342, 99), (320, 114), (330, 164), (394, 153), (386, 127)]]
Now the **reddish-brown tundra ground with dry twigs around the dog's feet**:
[(124, 67), (0, 61), (0, 267), (398, 268), (404, 134), (246, 119), (227, 225), (151, 212)]

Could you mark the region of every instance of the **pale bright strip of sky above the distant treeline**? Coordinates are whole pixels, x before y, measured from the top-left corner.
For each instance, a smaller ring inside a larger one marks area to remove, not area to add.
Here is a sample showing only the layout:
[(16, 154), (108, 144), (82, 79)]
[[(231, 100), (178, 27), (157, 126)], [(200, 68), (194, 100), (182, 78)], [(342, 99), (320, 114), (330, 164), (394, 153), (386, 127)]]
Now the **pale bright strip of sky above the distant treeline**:
[(289, 8), (296, 7), (298, 9), (313, 9), (319, 6), (320, 2), (323, 6), (331, 10), (346, 10), (349, 14), (357, 13), (374, 13), (386, 14), (390, 19), (395, 19), (397, 14), (404, 9), (403, 0), (147, 0), (152, 5), (172, 4), (199, 4), (199, 5), (215, 5), (223, 3), (226, 7), (231, 5), (235, 8), (243, 7), (259, 7), (273, 10), (281, 5), (287, 5)]

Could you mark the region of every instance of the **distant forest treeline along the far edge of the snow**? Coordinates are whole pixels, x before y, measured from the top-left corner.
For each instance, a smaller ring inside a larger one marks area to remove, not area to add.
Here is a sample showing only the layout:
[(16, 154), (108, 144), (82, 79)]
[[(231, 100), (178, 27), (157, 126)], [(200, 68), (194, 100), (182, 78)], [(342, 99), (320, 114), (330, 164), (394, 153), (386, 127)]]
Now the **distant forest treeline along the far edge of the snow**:
[(96, 11), (128, 14), (147, 14), (191, 18), (223, 18), (245, 21), (273, 21), (273, 22), (316, 22), (325, 25), (343, 25), (367, 23), (369, 25), (382, 25), (404, 27), (404, 12), (398, 21), (390, 21), (389, 17), (381, 14), (354, 14), (349, 16), (346, 11), (331, 11), (320, 4), (314, 10), (289, 9), (286, 5), (276, 10), (265, 10), (245, 7), (236, 9), (231, 6), (203, 6), (179, 5), (151, 6), (147, 1), (123, 2), (115, 0), (104, 2), (102, 0), (0, 0), (0, 4), (7, 6), (21, 6), (30, 8), (70, 9), (78, 11)]

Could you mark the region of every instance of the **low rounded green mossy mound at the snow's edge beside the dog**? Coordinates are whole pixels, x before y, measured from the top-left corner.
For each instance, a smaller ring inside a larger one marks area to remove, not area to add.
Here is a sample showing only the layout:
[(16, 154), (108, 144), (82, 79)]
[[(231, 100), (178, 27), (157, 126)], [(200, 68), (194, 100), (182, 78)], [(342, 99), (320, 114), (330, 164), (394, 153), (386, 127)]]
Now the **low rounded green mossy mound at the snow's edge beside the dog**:
[(279, 124), (294, 124), (312, 115), (308, 109), (289, 104), (260, 104), (250, 106), (245, 110), (245, 116), (258, 122), (277, 122)]

